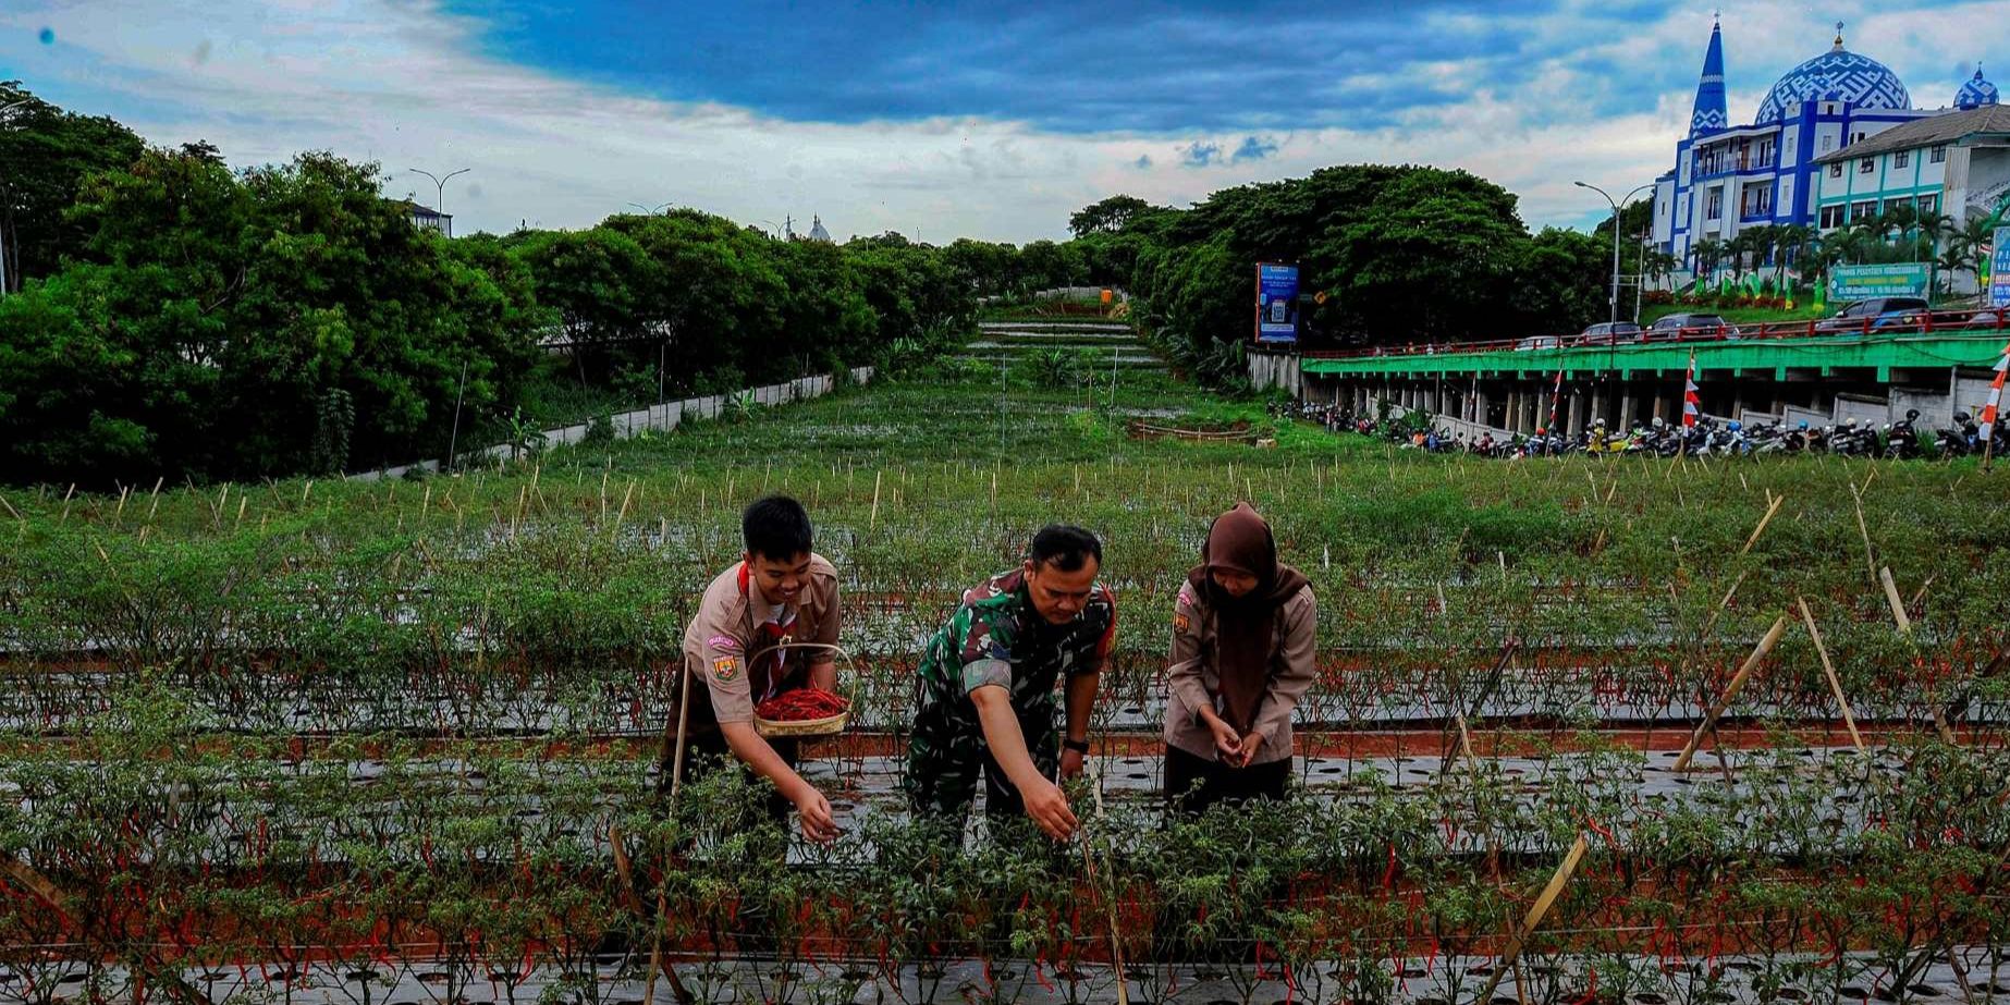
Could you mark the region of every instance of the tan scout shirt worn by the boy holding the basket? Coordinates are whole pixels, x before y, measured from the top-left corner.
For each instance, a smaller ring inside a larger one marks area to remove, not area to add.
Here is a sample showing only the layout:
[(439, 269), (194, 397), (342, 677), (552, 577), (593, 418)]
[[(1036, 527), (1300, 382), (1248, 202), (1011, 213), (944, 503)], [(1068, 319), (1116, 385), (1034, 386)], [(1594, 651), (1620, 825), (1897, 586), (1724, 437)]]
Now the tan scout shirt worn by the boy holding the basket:
[[(697, 687), (693, 681), (691, 687), (693, 732), (720, 722), (754, 722), (756, 703), (802, 687), (804, 667), (834, 657), (830, 649), (776, 651), (762, 623), (778, 611), (762, 599), (758, 585), (742, 579), (742, 569), (744, 563), (734, 565), (706, 587), (697, 615), (683, 631), (683, 669), (706, 683)], [(798, 595), (798, 607), (780, 609), (784, 619), (790, 613), (794, 623), (784, 629), (786, 641), (838, 641), (838, 571), (822, 555), (810, 555), (810, 581)]]

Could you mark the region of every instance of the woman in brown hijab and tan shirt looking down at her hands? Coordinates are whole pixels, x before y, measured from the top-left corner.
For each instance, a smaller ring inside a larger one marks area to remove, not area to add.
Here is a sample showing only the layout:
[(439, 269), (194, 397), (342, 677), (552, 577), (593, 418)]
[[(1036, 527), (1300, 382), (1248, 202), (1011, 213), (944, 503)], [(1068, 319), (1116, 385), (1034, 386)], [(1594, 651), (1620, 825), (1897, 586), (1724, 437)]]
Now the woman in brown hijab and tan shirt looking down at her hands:
[(1270, 525), (1238, 502), (1214, 519), (1172, 613), (1166, 798), (1282, 798), (1290, 712), (1313, 685), (1317, 611), (1304, 573), (1276, 561)]

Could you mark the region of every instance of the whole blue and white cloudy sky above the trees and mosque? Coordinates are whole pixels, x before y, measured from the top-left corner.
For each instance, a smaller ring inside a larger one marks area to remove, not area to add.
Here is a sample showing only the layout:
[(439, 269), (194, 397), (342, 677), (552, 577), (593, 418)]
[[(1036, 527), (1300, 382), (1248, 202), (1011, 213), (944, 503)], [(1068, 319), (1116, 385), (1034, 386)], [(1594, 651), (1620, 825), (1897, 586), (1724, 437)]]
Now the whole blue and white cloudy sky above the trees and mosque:
[[(1721, 18), (1739, 123), (1837, 20), (1916, 107), (1978, 60), (2010, 78), (2010, 0)], [(1638, 0), (0, 0), (0, 80), (233, 167), (376, 161), (428, 205), (414, 169), (466, 167), (456, 233), (669, 203), (1021, 243), (1108, 195), (1188, 205), (1339, 163), (1465, 169), (1532, 227), (1590, 227), (1610, 207), (1574, 181), (1620, 195), (1672, 165), (1711, 22)]]

